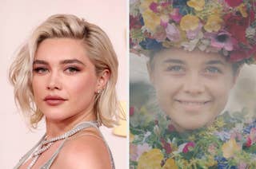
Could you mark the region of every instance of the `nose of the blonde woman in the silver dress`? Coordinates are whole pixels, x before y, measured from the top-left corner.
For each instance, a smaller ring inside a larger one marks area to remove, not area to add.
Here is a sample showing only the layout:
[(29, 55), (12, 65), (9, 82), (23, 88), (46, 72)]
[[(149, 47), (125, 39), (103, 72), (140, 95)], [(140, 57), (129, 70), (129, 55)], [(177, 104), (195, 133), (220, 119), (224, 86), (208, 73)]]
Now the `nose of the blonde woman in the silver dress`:
[(48, 90), (54, 90), (54, 89), (60, 90), (60, 89), (62, 89), (61, 77), (58, 75), (57, 72), (52, 72), (52, 73), (49, 74), (46, 88)]

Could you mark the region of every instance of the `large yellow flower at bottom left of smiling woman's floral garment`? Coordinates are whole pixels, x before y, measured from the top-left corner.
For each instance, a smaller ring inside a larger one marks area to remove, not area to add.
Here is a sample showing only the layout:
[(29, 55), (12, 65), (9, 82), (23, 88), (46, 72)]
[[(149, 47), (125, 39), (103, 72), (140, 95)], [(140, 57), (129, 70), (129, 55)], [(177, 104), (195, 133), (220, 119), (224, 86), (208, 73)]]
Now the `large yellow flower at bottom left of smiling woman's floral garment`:
[(161, 168), (162, 159), (162, 152), (158, 148), (144, 152), (138, 159), (138, 169)]

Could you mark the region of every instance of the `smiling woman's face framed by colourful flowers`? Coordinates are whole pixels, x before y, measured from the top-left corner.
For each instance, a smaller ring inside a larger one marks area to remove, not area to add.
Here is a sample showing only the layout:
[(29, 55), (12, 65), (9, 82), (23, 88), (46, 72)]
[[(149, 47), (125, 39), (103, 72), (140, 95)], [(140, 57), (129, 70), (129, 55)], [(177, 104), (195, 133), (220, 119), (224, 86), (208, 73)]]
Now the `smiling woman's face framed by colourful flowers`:
[(221, 55), (197, 50), (162, 51), (148, 68), (160, 107), (180, 132), (210, 124), (237, 77)]

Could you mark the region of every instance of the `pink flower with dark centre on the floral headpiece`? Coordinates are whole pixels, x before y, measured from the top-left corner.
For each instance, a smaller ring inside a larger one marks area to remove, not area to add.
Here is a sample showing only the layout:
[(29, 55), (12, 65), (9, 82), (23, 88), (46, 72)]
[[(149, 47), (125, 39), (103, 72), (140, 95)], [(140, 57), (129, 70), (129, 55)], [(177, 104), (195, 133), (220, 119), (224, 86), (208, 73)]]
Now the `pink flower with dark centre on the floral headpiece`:
[(238, 45), (238, 41), (231, 37), (230, 33), (221, 31), (219, 33), (206, 33), (206, 37), (210, 37), (210, 45), (217, 49), (226, 49), (232, 51)]

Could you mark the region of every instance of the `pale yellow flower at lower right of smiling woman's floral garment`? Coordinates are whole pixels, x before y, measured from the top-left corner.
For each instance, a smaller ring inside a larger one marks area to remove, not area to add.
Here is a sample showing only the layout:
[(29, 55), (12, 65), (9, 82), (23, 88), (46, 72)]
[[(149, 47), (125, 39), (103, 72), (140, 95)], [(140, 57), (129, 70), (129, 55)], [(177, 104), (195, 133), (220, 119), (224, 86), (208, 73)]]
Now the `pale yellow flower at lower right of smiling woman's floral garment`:
[(223, 157), (226, 159), (232, 157), (236, 151), (240, 151), (238, 143), (234, 139), (230, 139), (222, 145)]

